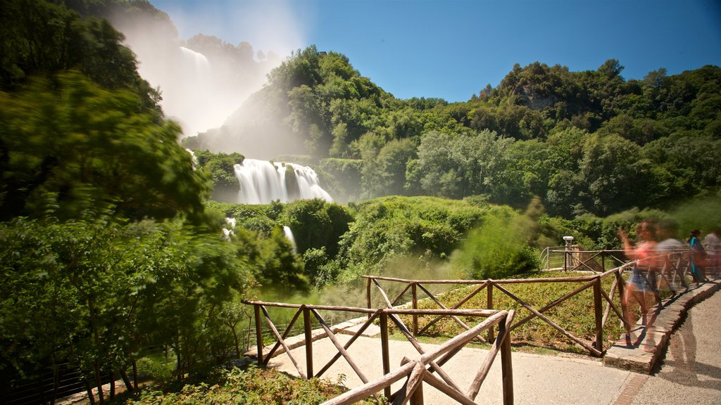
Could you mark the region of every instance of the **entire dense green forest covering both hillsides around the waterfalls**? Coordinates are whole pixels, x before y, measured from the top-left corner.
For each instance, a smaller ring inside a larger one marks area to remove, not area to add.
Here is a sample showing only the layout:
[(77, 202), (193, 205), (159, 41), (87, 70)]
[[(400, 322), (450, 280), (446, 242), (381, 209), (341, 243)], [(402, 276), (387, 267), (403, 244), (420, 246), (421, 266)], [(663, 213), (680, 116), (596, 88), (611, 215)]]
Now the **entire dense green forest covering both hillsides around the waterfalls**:
[[(132, 388), (158, 377), (149, 347), (182, 380), (240, 354), (242, 296), (347, 300), (337, 289), (368, 273), (506, 277), (564, 235), (606, 249), (640, 218), (671, 217), (677, 236), (721, 223), (717, 66), (627, 81), (615, 60), (532, 63), (448, 103), (396, 99), (310, 46), (224, 126), (182, 138), (111, 11), (177, 35), (144, 0), (0, 2), (0, 392), (61, 365)], [(255, 69), (247, 44), (184, 45)], [(237, 190), (258, 138), (339, 203), (211, 200)]]

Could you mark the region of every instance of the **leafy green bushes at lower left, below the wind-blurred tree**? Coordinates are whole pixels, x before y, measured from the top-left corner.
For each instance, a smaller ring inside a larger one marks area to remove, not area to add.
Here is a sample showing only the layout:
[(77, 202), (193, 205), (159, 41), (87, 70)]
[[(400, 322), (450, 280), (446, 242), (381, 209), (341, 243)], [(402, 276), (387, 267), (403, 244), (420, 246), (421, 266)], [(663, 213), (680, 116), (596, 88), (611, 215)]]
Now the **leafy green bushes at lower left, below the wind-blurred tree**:
[(158, 344), (182, 375), (213, 354), (208, 323), (250, 281), (232, 244), (180, 221), (17, 218), (0, 224), (0, 241), (3, 373), (69, 361), (91, 379), (123, 374)]

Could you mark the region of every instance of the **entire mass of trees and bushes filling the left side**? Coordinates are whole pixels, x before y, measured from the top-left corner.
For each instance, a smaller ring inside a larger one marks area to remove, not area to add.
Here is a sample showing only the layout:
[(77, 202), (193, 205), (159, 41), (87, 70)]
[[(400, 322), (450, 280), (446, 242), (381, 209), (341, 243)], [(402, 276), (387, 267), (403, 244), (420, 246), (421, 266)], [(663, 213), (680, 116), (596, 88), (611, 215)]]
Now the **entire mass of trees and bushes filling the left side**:
[(122, 41), (63, 1), (0, 2), (0, 402), (62, 370), (131, 389), (154, 344), (179, 379), (239, 351), (252, 246), (223, 239), (208, 174)]

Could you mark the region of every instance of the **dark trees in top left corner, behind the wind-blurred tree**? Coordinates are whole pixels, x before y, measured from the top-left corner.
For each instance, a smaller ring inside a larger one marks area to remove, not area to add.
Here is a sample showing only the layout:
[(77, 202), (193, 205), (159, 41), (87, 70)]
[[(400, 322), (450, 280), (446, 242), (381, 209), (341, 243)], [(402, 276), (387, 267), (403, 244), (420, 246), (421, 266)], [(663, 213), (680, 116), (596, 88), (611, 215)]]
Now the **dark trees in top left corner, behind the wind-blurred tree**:
[(8, 0), (0, 10), (0, 89), (77, 69), (105, 89), (137, 94), (142, 110), (160, 112), (159, 94), (138, 75), (135, 56), (107, 20), (81, 17), (62, 1)]

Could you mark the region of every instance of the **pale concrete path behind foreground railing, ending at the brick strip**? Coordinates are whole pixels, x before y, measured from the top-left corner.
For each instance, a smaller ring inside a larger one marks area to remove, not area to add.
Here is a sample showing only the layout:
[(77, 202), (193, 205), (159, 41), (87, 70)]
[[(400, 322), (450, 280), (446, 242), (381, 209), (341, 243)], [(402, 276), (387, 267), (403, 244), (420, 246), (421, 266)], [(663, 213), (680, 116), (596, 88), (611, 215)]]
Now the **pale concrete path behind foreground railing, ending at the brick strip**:
[[(348, 339), (349, 337), (340, 337), (343, 343)], [(422, 346), (427, 351), (433, 350), (433, 345)], [(313, 351), (313, 362), (316, 367), (324, 365), (337, 352), (329, 339), (314, 342)], [(380, 339), (361, 337), (353, 343), (348, 352), (358, 368), (366, 373), (368, 380), (383, 375)], [(389, 353), (392, 369), (401, 364), (404, 356), (410, 359), (418, 357), (418, 352), (408, 342), (389, 342)], [(305, 370), (304, 349), (291, 350), (291, 354), (296, 358), (301, 369)], [(462, 391), (466, 391), (486, 354), (487, 350), (466, 348), (443, 365), (443, 370)], [(515, 404), (612, 404), (631, 374), (629, 371), (603, 367), (603, 363), (597, 360), (519, 352), (513, 352), (512, 357)], [(291, 375), (298, 375), (287, 355), (275, 357), (271, 360), (270, 366)], [(348, 388), (362, 385), (361, 379), (342, 358), (325, 375), (329, 376), (332, 382), (337, 381), (337, 375), (344, 375), (344, 383)], [(395, 383), (392, 391), (397, 391), (403, 382), (404, 380)], [(498, 355), (476, 401), (479, 404), (503, 404), (502, 394), (500, 355)], [(423, 386), (423, 396), (425, 404), (456, 404), (456, 401), (428, 385)]]

